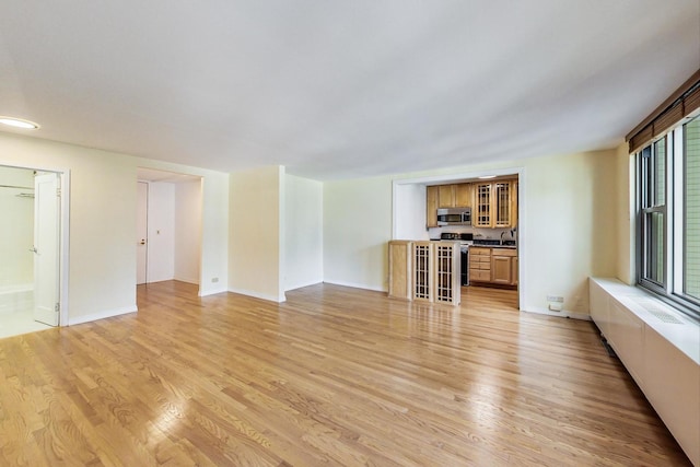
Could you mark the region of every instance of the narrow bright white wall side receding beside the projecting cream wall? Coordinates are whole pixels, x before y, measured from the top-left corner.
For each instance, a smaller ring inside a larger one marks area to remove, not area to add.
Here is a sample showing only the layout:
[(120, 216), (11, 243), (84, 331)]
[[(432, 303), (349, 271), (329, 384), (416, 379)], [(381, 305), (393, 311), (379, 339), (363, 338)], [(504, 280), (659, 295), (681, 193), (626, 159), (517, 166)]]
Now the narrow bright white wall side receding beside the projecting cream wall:
[(323, 184), (285, 175), (284, 290), (323, 282)]

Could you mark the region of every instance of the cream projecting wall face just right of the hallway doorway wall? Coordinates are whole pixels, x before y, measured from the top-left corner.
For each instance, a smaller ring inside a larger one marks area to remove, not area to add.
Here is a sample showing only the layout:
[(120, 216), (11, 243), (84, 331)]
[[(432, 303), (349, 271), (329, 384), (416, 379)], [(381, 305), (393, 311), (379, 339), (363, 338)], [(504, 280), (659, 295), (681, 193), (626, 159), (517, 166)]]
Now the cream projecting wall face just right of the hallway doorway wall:
[(283, 302), (284, 167), (231, 174), (229, 290)]

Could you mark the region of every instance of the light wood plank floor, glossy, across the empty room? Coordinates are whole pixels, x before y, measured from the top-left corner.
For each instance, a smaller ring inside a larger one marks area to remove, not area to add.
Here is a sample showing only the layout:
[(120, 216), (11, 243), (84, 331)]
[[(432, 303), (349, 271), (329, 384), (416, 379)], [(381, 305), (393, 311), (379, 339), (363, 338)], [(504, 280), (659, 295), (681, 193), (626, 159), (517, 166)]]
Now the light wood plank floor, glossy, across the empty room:
[(512, 291), (138, 295), (0, 340), (0, 465), (689, 464), (591, 323), (521, 314)]

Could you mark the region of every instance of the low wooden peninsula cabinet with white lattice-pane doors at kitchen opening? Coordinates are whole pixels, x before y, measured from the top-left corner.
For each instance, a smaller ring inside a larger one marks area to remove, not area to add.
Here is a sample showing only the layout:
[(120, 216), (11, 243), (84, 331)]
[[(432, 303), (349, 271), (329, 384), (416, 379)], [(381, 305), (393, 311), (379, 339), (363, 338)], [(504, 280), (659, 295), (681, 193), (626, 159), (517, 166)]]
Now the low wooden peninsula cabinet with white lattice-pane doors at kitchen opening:
[(456, 242), (389, 242), (389, 296), (448, 303), (462, 301)]

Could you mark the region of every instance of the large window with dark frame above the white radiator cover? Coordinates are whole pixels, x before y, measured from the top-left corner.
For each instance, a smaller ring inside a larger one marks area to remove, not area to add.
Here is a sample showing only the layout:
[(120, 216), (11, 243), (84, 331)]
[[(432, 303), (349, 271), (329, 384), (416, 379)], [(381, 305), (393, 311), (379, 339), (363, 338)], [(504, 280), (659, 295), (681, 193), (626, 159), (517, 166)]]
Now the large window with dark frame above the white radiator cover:
[(700, 116), (638, 152), (638, 282), (700, 319)]

